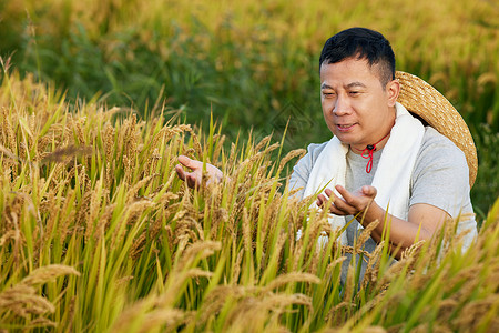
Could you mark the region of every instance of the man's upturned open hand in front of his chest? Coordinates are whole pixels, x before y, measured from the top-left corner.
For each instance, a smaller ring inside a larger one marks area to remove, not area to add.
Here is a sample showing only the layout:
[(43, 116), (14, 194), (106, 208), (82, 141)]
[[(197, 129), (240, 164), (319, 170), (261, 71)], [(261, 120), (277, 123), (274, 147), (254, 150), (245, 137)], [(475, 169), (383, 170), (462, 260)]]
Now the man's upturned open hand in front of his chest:
[[(347, 191), (342, 185), (335, 188), (342, 196), (337, 196), (330, 189), (326, 189), (324, 194), (317, 196), (317, 205), (323, 206), (328, 198), (334, 196), (329, 211), (336, 215), (356, 215), (365, 211), (376, 198), (377, 190), (374, 186), (365, 185), (354, 192)], [(327, 198), (326, 198), (327, 196)]]

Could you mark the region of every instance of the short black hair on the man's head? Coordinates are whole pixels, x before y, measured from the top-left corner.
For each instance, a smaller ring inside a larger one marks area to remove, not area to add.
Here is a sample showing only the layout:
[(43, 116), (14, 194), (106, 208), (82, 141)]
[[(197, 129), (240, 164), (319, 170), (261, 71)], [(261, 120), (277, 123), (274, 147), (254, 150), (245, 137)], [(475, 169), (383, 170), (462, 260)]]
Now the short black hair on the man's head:
[(319, 71), (323, 63), (337, 63), (353, 57), (366, 59), (370, 67), (379, 65), (379, 81), (384, 89), (395, 79), (395, 53), (390, 42), (381, 33), (367, 28), (350, 28), (329, 38), (320, 52)]

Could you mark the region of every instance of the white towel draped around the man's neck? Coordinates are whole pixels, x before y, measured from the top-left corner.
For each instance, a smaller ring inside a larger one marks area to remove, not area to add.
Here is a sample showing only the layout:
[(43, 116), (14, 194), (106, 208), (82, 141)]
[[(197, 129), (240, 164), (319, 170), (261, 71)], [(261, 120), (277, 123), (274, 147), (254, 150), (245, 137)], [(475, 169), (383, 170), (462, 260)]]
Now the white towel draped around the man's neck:
[[(425, 128), (403, 104), (397, 102), (395, 108), (397, 111), (395, 125), (383, 149), (371, 185), (377, 189), (375, 202), (379, 206), (388, 209), (388, 213), (394, 216), (407, 220), (410, 176), (421, 147)], [(345, 186), (347, 152), (348, 144), (342, 143), (336, 137), (329, 140), (312, 169), (304, 196), (318, 194), (326, 184), (336, 195), (339, 195), (335, 185)], [(315, 202), (313, 206), (316, 206)], [(346, 222), (345, 216), (330, 214), (329, 223), (333, 229), (343, 228)], [(342, 233), (339, 242), (347, 244), (346, 232)]]

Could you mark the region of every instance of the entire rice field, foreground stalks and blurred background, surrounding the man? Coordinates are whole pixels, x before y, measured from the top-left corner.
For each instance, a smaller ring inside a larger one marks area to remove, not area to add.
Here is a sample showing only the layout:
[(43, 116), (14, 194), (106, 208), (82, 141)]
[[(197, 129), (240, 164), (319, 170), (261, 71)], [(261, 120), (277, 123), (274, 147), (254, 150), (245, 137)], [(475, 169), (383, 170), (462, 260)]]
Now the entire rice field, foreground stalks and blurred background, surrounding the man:
[[(497, 18), (486, 0), (0, 2), (0, 332), (498, 332)], [(352, 26), (469, 124), (466, 253), (457, 221), (396, 263), (385, 241), (364, 252), (369, 229), (339, 246), (287, 191), (329, 135), (319, 50)], [(189, 189), (179, 154), (228, 178)]]

